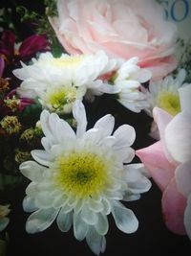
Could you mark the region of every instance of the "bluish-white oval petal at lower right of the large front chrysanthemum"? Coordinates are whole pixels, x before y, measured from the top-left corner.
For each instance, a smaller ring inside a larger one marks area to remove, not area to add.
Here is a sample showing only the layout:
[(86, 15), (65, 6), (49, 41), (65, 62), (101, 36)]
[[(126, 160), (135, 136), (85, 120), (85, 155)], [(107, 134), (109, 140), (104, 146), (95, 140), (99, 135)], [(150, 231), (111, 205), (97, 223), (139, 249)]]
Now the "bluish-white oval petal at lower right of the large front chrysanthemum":
[(138, 219), (132, 210), (125, 208), (122, 204), (116, 203), (113, 206), (112, 214), (117, 228), (124, 233), (134, 233), (138, 229)]

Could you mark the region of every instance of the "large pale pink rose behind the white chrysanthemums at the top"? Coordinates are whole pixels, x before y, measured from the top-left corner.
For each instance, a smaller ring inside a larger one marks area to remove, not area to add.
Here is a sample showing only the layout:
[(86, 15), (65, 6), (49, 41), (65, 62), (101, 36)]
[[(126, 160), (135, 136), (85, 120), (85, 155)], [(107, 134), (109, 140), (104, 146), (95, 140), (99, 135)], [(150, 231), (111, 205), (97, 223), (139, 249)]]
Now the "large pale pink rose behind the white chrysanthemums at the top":
[(153, 79), (177, 67), (173, 57), (177, 28), (153, 0), (58, 0), (50, 18), (60, 43), (70, 54), (104, 50), (111, 58), (138, 57)]

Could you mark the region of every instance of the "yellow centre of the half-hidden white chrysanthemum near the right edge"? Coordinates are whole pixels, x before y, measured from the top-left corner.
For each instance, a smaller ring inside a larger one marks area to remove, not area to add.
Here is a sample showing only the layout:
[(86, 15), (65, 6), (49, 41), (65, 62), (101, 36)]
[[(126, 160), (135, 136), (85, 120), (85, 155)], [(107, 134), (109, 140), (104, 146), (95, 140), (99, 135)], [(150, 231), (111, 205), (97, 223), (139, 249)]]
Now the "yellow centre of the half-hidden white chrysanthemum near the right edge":
[(158, 96), (157, 104), (173, 116), (180, 112), (180, 97), (176, 93), (161, 92)]

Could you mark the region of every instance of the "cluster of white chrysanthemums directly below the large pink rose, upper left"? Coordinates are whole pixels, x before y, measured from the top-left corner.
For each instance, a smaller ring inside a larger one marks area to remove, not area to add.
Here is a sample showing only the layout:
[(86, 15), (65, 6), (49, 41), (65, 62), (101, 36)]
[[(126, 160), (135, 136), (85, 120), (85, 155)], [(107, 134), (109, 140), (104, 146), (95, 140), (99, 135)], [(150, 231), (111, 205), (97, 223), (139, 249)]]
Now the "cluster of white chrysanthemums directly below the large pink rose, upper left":
[(103, 93), (117, 94), (117, 100), (135, 112), (149, 106), (140, 82), (149, 81), (151, 73), (138, 67), (138, 58), (124, 62), (108, 58), (103, 51), (95, 55), (62, 54), (60, 58), (44, 53), (32, 58), (32, 65), (22, 66), (13, 71), (22, 80), (17, 93), (37, 98), (43, 108), (58, 114), (71, 113), (75, 100), (82, 101), (84, 96), (94, 100)]

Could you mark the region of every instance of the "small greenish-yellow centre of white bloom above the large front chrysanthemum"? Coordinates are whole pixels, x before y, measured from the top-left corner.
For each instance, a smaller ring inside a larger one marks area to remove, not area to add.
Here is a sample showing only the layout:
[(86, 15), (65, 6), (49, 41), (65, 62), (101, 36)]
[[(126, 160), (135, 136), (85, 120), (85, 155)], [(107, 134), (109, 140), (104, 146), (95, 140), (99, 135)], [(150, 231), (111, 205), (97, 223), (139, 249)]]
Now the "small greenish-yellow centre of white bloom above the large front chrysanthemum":
[(46, 104), (52, 105), (57, 109), (63, 105), (73, 103), (76, 99), (75, 87), (60, 87), (47, 91)]

